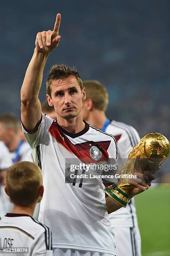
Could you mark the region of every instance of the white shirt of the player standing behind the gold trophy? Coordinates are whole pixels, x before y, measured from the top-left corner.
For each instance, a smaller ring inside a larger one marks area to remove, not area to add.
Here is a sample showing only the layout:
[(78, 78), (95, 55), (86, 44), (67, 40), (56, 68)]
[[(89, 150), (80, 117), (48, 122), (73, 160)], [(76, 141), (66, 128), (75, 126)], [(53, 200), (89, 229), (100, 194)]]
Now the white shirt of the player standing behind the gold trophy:
[[(106, 128), (106, 132), (112, 134), (117, 141), (117, 149), (119, 159), (127, 159), (133, 146), (136, 146), (140, 141), (140, 136), (137, 131), (130, 125), (122, 122), (111, 121)], [(113, 227), (133, 227), (137, 226), (136, 207), (134, 198), (132, 198), (127, 207), (109, 214), (109, 219)]]

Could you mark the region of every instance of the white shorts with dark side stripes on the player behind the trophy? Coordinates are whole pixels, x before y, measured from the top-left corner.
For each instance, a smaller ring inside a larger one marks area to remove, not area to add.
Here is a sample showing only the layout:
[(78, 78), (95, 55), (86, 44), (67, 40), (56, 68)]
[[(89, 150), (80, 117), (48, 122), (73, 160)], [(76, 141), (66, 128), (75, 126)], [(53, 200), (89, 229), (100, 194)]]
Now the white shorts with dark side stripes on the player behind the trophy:
[(117, 256), (141, 256), (141, 238), (138, 227), (112, 228), (115, 235)]

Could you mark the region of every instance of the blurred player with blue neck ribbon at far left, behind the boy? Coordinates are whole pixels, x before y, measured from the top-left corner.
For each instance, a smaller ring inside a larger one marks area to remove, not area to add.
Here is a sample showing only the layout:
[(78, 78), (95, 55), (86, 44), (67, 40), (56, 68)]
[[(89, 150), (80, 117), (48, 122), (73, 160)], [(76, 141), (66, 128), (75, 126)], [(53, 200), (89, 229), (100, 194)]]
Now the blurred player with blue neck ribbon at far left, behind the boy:
[(0, 116), (0, 140), (8, 147), (13, 164), (23, 161), (30, 151), (28, 142), (20, 138), (20, 122), (13, 114)]

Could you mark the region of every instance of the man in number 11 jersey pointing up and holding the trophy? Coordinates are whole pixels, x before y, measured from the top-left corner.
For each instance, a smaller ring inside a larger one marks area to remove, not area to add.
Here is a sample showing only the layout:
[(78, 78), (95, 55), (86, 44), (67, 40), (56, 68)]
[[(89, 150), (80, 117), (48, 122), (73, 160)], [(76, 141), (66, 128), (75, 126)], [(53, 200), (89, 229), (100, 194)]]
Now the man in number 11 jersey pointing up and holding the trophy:
[[(108, 213), (121, 206), (107, 198), (101, 179), (95, 184), (83, 179), (65, 182), (65, 160), (79, 164), (117, 159), (113, 136), (91, 127), (82, 119), (85, 89), (79, 73), (65, 65), (54, 65), (47, 78), (47, 100), (54, 106), (57, 120), (42, 114), (38, 94), (46, 60), (60, 41), (61, 15), (56, 17), (53, 31), (39, 32), (36, 48), (21, 88), (21, 120), (34, 160), (42, 169), (44, 197), (40, 220), (53, 233), (54, 255), (115, 255), (114, 233)], [(84, 172), (82, 170), (81, 172)], [(76, 170), (75, 170), (76, 173)], [(143, 192), (150, 184), (131, 190), (129, 198)]]

